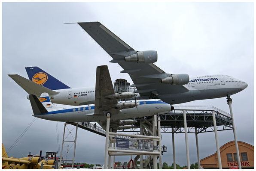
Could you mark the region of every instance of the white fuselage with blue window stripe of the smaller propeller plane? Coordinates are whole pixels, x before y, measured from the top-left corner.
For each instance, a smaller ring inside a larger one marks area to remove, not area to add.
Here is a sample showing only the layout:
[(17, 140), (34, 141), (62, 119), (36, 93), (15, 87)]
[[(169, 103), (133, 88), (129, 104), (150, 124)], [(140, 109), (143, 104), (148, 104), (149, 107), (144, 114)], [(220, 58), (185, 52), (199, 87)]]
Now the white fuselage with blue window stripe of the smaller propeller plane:
[[(130, 101), (127, 101), (130, 102)], [(131, 100), (134, 102), (134, 100)], [(111, 119), (120, 120), (128, 118), (137, 118), (149, 115), (157, 115), (171, 111), (171, 105), (160, 99), (137, 100), (139, 105), (130, 109), (110, 110)], [(47, 113), (33, 115), (50, 121), (62, 122), (99, 122), (106, 120), (106, 115), (94, 115), (94, 104), (82, 106), (69, 106), (58, 109), (51, 109), (46, 106)], [(117, 112), (118, 111), (118, 112)]]

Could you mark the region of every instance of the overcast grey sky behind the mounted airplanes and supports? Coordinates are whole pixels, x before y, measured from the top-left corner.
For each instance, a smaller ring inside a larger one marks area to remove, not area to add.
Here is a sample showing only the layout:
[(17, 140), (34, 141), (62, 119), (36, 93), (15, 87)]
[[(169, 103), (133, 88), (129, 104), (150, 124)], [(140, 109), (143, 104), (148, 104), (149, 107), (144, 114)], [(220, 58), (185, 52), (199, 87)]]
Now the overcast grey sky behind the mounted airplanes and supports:
[[(6, 150), (34, 119), (27, 93), (7, 74), (27, 77), (25, 67), (39, 66), (66, 85), (95, 86), (96, 67), (108, 65), (112, 81), (128, 74), (78, 24), (99, 21), (135, 50), (156, 50), (159, 68), (197, 77), (226, 74), (248, 87), (232, 95), (238, 141), (254, 145), (254, 4), (253, 3), (3, 3), (2, 142)], [(226, 112), (226, 98), (198, 100)], [(64, 123), (58, 122), (62, 139)], [(219, 131), (219, 144), (233, 141), (233, 131)], [(198, 135), (200, 159), (216, 152), (214, 132)], [(163, 162), (173, 162), (171, 134)], [(104, 164), (105, 137), (79, 129), (75, 162)], [(175, 134), (176, 162), (186, 165), (185, 135)], [(8, 153), (57, 151), (56, 122), (37, 118)], [(71, 152), (70, 152), (71, 153)], [(197, 162), (195, 135), (189, 134), (190, 163)], [(72, 155), (70, 155), (72, 158)], [(129, 161), (118, 156), (117, 161)]]

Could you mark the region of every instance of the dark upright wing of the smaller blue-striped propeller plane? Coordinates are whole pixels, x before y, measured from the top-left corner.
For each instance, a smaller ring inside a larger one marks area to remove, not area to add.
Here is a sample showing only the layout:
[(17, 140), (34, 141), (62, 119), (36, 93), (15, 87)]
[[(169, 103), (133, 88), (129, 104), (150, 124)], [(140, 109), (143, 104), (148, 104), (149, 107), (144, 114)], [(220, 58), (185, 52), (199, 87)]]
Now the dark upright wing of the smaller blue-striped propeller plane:
[[(97, 67), (95, 85), (94, 115), (104, 115), (107, 111), (113, 110), (111, 107), (117, 104), (116, 99), (106, 99), (105, 96), (115, 94), (110, 73), (107, 65)], [(118, 112), (115, 109), (114, 112)]]

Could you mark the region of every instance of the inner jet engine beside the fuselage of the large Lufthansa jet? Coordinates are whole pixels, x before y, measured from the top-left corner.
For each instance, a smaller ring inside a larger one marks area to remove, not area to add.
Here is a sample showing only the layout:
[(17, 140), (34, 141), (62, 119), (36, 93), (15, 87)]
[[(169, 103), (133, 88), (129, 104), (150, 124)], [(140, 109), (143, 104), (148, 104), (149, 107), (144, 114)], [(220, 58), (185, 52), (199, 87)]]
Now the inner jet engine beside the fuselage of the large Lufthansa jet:
[(170, 77), (161, 80), (165, 84), (184, 85), (189, 83), (188, 74), (173, 74)]

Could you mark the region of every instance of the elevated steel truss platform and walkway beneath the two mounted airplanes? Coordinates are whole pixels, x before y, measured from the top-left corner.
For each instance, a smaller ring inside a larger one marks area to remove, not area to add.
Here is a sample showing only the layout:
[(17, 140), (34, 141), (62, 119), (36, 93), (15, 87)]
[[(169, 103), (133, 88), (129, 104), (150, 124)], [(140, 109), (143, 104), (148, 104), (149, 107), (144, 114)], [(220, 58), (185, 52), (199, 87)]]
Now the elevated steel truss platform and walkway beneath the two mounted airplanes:
[[(218, 131), (233, 129), (231, 115), (214, 106), (174, 105), (173, 111), (159, 115), (161, 118), (161, 133), (171, 133), (172, 127), (174, 127), (175, 133), (184, 133), (183, 110), (186, 111), (188, 133), (195, 133), (195, 128), (198, 133), (213, 132), (214, 130), (211, 128), (213, 127), (213, 111), (215, 112)], [(135, 120), (138, 122), (135, 124), (134, 128), (118, 130), (118, 132), (139, 132), (137, 128), (140, 128), (140, 121), (152, 121), (153, 117), (147, 116), (135, 118)], [(106, 131), (103, 128), (95, 127), (94, 124), (91, 123), (79, 122), (78, 127), (101, 136), (106, 136)]]

